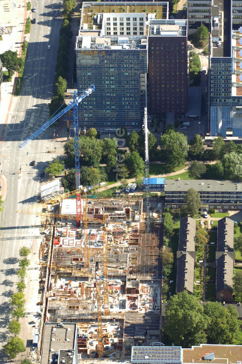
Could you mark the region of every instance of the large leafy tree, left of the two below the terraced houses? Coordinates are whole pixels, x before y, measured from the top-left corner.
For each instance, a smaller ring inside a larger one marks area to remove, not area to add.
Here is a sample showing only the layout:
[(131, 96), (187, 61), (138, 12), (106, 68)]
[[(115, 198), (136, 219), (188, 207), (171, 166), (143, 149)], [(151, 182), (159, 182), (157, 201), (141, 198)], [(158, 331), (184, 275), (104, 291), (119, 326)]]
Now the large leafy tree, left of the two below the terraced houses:
[(164, 332), (170, 343), (183, 348), (206, 343), (206, 328), (209, 323), (203, 306), (186, 290), (170, 297), (166, 306)]

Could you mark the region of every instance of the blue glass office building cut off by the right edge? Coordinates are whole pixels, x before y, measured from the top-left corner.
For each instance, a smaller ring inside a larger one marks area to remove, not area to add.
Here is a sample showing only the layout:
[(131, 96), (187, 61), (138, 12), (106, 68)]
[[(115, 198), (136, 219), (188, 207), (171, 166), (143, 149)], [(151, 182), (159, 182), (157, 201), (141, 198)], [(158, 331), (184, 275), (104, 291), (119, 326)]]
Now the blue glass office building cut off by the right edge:
[(217, 8), (213, 12), (212, 8), (212, 25), (218, 16), (221, 20), (216, 24), (218, 31), (214, 32), (212, 27), (210, 133), (212, 136), (242, 137), (242, 24), (231, 30), (231, 5), (228, 0), (226, 18), (223, 17), (223, 8), (219, 12)]

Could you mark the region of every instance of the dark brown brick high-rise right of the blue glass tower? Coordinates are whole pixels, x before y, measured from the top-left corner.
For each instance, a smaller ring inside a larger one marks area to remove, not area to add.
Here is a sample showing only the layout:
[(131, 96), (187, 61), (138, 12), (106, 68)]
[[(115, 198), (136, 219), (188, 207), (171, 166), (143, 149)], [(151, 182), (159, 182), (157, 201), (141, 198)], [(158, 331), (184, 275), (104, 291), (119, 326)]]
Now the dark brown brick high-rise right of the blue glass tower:
[(151, 20), (148, 37), (148, 112), (166, 117), (187, 111), (187, 21)]

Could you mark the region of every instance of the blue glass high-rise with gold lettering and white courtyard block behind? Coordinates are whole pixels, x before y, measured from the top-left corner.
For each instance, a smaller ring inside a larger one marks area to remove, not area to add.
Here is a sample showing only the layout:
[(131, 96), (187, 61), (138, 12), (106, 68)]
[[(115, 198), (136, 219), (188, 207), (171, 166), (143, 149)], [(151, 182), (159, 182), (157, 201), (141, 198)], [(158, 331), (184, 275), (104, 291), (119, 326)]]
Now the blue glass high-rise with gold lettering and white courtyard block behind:
[(78, 92), (95, 91), (79, 104), (83, 128), (140, 130), (146, 107), (148, 21), (167, 19), (167, 2), (83, 2), (76, 38)]

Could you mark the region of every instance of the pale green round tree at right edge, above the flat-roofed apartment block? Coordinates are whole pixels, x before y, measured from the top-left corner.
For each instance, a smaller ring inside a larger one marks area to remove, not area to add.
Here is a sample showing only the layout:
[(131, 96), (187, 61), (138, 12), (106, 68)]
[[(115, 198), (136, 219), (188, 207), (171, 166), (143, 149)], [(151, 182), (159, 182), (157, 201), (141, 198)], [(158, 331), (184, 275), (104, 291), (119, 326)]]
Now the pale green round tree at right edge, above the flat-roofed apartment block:
[(242, 154), (232, 152), (223, 156), (223, 168), (228, 179), (242, 179)]

